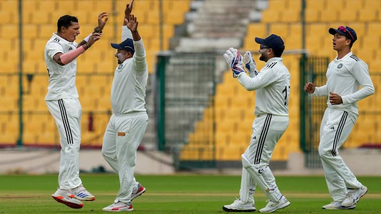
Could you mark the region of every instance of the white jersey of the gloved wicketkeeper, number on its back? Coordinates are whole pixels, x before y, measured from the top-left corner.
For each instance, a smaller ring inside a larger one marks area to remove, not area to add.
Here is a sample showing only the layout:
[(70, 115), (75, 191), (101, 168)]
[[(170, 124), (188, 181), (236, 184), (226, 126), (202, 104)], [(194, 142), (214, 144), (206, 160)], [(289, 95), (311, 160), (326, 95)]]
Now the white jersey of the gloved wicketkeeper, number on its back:
[(288, 116), (291, 76), (283, 64), (283, 58), (273, 57), (267, 60), (259, 74), (253, 78), (242, 73), (238, 81), (248, 91), (256, 90), (256, 116), (273, 114)]

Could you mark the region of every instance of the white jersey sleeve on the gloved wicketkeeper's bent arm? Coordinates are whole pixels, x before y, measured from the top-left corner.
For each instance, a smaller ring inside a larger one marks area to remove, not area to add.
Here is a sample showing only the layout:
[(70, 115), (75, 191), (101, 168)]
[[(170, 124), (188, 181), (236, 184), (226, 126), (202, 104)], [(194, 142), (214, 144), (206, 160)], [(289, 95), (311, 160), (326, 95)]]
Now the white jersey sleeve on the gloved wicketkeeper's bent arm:
[(247, 91), (253, 91), (270, 85), (277, 79), (273, 69), (261, 70), (259, 74), (253, 78), (241, 73), (238, 76), (238, 82), (245, 87)]

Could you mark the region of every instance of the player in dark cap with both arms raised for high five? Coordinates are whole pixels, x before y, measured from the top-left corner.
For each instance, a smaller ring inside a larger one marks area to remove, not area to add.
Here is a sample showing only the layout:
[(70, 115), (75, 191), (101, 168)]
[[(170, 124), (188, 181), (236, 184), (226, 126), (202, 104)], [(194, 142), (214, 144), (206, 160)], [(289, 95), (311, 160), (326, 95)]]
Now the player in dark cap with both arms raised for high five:
[(115, 56), (119, 65), (111, 88), (113, 115), (104, 132), (102, 155), (118, 172), (120, 189), (114, 203), (103, 211), (132, 211), (131, 201), (145, 191), (134, 178), (134, 168), (136, 151), (148, 123), (144, 107), (148, 68), (137, 19), (130, 15), (132, 4), (133, 1), (125, 10), (122, 42), (111, 44), (118, 49)]

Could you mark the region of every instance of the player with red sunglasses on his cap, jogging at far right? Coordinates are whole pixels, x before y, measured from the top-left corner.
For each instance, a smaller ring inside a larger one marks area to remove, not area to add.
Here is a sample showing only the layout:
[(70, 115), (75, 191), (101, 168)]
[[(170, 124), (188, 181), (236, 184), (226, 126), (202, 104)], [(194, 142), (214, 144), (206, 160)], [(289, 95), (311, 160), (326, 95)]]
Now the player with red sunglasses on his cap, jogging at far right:
[(374, 94), (374, 87), (368, 65), (351, 52), (357, 40), (356, 32), (348, 26), (340, 26), (330, 28), (329, 33), (334, 35), (333, 48), (338, 55), (328, 65), (326, 84), (315, 87), (307, 83), (304, 91), (310, 96), (329, 97), (320, 124), (319, 156), (334, 201), (322, 208), (353, 209), (368, 189), (356, 179), (338, 150), (358, 117), (357, 101)]

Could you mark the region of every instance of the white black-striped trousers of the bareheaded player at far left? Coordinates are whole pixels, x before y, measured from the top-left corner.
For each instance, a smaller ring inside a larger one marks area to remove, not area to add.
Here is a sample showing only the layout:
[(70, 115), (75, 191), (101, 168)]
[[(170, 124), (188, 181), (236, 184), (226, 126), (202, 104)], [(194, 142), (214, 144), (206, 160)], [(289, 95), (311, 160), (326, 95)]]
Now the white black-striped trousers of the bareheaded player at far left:
[(60, 189), (73, 189), (82, 184), (79, 178), (82, 107), (78, 98), (45, 101), (60, 132), (61, 159), (58, 183)]

